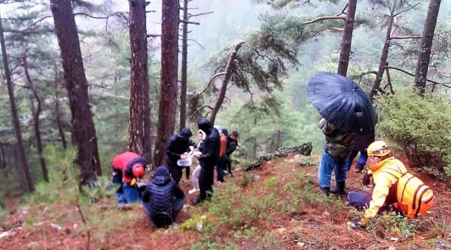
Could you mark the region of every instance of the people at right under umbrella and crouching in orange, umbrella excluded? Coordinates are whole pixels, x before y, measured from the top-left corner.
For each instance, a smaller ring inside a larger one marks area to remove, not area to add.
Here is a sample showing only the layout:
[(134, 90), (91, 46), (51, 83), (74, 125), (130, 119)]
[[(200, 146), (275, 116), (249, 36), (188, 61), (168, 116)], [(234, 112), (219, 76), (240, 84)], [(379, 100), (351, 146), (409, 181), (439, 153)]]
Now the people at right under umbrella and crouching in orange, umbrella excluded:
[[(319, 187), (327, 196), (347, 196), (351, 206), (365, 211), (363, 219), (350, 222), (352, 228), (365, 226), (378, 213), (387, 210), (406, 217), (417, 217), (432, 208), (434, 194), (431, 188), (407, 172), (405, 165), (393, 157), (391, 148), (385, 142), (375, 141), (374, 133), (347, 133), (324, 118), (319, 122), (319, 127), (326, 140), (318, 168)], [(362, 183), (373, 185), (371, 194), (345, 191), (347, 172), (358, 153), (360, 156), (355, 172), (362, 172), (368, 165)], [(337, 184), (335, 188), (331, 188), (332, 171)]]

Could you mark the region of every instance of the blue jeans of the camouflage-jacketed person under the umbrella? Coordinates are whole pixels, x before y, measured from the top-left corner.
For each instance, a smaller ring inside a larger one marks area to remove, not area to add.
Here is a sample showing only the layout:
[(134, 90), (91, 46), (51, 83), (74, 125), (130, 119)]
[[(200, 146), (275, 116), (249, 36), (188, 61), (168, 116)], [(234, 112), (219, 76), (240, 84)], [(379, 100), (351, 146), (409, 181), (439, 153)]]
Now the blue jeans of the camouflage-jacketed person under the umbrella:
[(337, 181), (346, 181), (346, 158), (334, 159), (329, 156), (323, 149), (323, 154), (321, 155), (321, 162), (318, 168), (318, 179), (319, 186), (321, 188), (330, 187), (330, 178), (332, 176), (332, 170), (335, 174), (335, 179)]

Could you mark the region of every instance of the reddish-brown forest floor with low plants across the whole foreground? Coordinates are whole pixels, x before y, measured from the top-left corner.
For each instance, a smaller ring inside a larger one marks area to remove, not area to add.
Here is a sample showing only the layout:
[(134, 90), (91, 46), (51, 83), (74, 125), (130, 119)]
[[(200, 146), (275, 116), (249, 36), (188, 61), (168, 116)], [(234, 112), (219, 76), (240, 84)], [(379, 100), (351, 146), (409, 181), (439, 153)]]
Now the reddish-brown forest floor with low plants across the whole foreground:
[[(139, 205), (117, 208), (114, 197), (81, 206), (82, 213), (63, 203), (21, 206), (3, 217), (0, 249), (451, 249), (451, 191), (443, 183), (418, 174), (435, 194), (422, 220), (393, 215), (352, 230), (346, 222), (359, 213), (344, 199), (324, 197), (317, 165), (303, 167), (294, 156), (215, 183), (221, 202), (193, 207), (190, 194), (168, 229), (153, 228)], [(361, 177), (352, 168), (347, 190), (362, 190)], [(180, 183), (192, 188), (185, 178)], [(197, 226), (187, 226), (192, 218)]]

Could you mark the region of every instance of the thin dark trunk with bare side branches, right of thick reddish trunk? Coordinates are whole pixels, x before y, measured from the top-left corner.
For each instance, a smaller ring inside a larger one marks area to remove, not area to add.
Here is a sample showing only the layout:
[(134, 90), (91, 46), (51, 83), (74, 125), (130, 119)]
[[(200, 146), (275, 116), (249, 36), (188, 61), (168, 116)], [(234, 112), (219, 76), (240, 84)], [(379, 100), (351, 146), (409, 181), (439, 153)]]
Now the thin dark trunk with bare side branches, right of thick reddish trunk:
[(180, 131), (187, 120), (187, 57), (188, 57), (188, 0), (183, 0), (182, 23), (182, 79), (180, 81)]

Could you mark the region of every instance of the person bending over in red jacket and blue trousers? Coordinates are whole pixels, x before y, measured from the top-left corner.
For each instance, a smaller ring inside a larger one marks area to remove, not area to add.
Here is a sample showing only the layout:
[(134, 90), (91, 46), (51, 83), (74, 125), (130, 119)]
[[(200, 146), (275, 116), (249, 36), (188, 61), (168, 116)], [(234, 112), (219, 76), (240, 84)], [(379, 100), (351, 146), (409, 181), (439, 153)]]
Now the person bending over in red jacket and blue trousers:
[(137, 153), (125, 152), (115, 156), (112, 160), (112, 182), (120, 183), (116, 192), (119, 204), (139, 201), (137, 178), (146, 173), (146, 160)]

